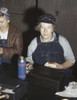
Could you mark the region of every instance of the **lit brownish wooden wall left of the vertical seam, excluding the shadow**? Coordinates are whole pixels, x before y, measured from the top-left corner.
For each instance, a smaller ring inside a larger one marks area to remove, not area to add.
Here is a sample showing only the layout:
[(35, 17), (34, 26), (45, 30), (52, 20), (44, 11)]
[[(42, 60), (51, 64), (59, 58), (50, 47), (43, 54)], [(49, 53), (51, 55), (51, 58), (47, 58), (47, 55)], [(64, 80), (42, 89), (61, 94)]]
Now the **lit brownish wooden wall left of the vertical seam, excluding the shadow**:
[(19, 27), (21, 31), (27, 29), (23, 22), (24, 12), (30, 7), (36, 6), (36, 0), (0, 0), (0, 7), (5, 6), (9, 9), (11, 23)]

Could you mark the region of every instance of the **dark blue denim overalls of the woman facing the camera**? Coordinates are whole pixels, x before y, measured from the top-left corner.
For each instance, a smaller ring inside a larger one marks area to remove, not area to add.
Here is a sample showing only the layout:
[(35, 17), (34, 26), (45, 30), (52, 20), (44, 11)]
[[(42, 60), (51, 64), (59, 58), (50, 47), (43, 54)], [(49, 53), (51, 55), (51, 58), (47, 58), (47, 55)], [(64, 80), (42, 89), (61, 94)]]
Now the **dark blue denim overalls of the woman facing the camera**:
[[(59, 34), (52, 42), (41, 42), (40, 37), (37, 37), (37, 48), (32, 54), (34, 63), (44, 65), (46, 62), (56, 62), (62, 64), (65, 61), (64, 51), (60, 45)], [(60, 69), (59, 72), (64, 72), (67, 77), (72, 77), (71, 70)]]

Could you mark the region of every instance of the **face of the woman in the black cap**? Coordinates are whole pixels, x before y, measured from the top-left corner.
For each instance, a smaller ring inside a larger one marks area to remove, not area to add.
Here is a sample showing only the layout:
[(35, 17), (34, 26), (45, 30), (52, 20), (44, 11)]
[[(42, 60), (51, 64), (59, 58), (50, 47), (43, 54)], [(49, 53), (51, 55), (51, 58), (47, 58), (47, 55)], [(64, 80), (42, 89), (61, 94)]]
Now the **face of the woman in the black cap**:
[(44, 41), (49, 41), (52, 38), (53, 24), (40, 23), (40, 33)]

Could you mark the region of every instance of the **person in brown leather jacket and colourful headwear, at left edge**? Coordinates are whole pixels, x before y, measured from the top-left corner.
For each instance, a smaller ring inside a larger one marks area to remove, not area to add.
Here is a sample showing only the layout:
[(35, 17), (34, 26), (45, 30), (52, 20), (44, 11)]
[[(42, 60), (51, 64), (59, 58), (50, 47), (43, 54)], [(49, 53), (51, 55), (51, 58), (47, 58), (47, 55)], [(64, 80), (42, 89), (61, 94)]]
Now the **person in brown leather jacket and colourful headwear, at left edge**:
[(10, 14), (5, 7), (0, 8), (0, 55), (2, 62), (11, 63), (15, 54), (21, 55), (23, 49), (22, 34), (10, 24)]

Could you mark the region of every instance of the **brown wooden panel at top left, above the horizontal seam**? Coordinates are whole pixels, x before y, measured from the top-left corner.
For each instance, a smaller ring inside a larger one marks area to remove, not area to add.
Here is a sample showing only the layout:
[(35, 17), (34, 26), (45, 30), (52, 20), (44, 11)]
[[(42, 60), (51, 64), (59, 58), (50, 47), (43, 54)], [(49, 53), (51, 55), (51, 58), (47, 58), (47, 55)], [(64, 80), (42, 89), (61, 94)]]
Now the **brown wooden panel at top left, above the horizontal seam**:
[(7, 7), (10, 13), (23, 14), (25, 9), (36, 6), (36, 0), (0, 0), (0, 6)]

